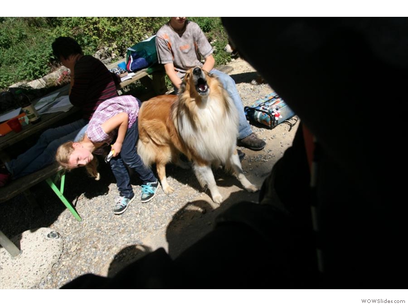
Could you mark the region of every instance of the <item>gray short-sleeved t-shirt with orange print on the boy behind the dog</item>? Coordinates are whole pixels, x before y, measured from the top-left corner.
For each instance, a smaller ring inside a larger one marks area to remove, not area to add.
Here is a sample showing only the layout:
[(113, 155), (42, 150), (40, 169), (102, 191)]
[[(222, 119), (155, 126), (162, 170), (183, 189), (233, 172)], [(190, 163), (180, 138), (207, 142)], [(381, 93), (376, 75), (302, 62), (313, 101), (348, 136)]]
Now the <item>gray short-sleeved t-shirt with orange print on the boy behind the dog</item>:
[(179, 34), (168, 22), (160, 28), (156, 37), (159, 63), (173, 63), (180, 79), (184, 78), (188, 69), (202, 67), (201, 58), (207, 58), (214, 51), (198, 24), (188, 20), (186, 23), (186, 31)]

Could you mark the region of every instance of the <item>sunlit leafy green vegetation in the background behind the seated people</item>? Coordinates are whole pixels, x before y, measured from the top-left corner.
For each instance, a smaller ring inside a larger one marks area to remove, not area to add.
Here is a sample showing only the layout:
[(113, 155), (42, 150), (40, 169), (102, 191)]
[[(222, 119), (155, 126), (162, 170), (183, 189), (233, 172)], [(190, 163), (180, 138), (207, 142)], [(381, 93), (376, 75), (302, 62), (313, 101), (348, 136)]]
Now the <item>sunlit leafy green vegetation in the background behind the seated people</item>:
[[(189, 17), (197, 22), (214, 47), (216, 65), (230, 56), (223, 51), (227, 37), (220, 17)], [(93, 55), (107, 48), (114, 58), (153, 34), (169, 17), (1, 17), (0, 91), (21, 81), (32, 81), (60, 64), (52, 57), (51, 44), (58, 36), (70, 36)]]

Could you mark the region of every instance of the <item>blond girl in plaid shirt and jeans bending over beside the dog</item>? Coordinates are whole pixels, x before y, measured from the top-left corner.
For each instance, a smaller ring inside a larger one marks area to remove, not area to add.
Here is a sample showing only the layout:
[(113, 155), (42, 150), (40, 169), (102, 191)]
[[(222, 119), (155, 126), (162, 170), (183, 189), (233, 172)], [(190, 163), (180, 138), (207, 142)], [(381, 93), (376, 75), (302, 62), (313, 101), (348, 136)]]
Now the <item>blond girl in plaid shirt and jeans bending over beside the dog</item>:
[(57, 162), (65, 169), (87, 166), (88, 172), (97, 177), (92, 153), (101, 154), (101, 146), (112, 145), (113, 157), (109, 163), (120, 195), (115, 199), (113, 212), (116, 215), (123, 213), (135, 198), (125, 164), (134, 169), (143, 181), (142, 202), (151, 200), (159, 187), (154, 173), (144, 166), (136, 151), (139, 104), (140, 101), (130, 95), (104, 101), (89, 121), (84, 138), (79, 142), (62, 144), (56, 154)]

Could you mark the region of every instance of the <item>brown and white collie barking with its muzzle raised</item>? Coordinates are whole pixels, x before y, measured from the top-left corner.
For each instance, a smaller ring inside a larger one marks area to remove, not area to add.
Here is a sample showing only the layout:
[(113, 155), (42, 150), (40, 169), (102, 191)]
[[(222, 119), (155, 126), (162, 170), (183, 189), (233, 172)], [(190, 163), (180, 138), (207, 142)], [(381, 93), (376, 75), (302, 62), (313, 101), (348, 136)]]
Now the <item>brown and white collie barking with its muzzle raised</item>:
[(187, 71), (178, 95), (161, 95), (142, 103), (139, 111), (137, 151), (146, 166), (156, 163), (165, 193), (173, 189), (166, 180), (165, 166), (173, 162), (183, 168), (180, 153), (191, 162), (202, 187), (208, 186), (214, 202), (222, 196), (211, 166), (232, 170), (249, 192), (252, 185), (242, 171), (236, 142), (238, 113), (218, 79), (193, 68)]

